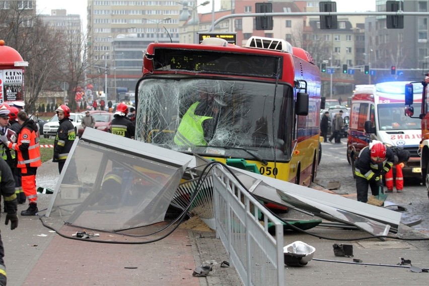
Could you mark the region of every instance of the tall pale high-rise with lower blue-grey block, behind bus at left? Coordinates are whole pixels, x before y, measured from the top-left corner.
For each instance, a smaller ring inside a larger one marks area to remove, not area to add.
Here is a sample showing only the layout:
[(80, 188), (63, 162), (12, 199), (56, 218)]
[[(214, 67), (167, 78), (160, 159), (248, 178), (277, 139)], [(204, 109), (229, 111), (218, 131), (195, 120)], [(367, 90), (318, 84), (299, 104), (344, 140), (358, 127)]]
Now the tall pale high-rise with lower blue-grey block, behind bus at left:
[(107, 70), (109, 95), (115, 94), (117, 87), (133, 91), (141, 76), (142, 55), (148, 44), (179, 41), (182, 8), (174, 0), (89, 0), (87, 36), (94, 68), (88, 76), (94, 78), (96, 90), (103, 90)]

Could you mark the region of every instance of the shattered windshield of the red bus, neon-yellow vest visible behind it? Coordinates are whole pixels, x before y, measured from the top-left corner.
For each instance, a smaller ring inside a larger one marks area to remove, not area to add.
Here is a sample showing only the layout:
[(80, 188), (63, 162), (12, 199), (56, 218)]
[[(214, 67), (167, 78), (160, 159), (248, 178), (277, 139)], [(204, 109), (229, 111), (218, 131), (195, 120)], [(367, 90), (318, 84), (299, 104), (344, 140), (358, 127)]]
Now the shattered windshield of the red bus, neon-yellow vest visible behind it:
[(135, 135), (137, 140), (189, 154), (289, 161), (293, 103), (287, 85), (146, 79), (138, 88)]

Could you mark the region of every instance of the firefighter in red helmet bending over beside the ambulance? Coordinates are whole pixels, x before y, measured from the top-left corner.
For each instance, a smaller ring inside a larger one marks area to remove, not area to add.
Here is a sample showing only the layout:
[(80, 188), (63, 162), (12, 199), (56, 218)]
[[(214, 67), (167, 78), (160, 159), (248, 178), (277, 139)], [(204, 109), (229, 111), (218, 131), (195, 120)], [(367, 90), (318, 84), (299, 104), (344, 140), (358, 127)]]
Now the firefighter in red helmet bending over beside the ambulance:
[(379, 187), (383, 187), (380, 176), (389, 172), (393, 161), (392, 150), (380, 141), (373, 140), (369, 146), (361, 150), (354, 164), (358, 201), (368, 202), (368, 185), (374, 196), (379, 194)]

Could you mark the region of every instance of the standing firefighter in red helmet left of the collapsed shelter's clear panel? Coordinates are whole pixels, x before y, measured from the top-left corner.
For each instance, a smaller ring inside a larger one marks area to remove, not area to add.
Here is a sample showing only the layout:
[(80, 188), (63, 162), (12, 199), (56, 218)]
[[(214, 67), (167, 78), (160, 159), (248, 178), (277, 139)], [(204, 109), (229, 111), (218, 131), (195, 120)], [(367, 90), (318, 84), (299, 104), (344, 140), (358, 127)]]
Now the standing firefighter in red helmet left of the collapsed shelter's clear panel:
[(58, 163), (58, 171), (61, 174), (68, 153), (72, 149), (73, 142), (76, 139), (75, 126), (70, 119), (70, 109), (67, 105), (60, 105), (56, 110), (58, 115), (59, 127), (56, 131), (54, 140), (54, 154), (52, 162)]

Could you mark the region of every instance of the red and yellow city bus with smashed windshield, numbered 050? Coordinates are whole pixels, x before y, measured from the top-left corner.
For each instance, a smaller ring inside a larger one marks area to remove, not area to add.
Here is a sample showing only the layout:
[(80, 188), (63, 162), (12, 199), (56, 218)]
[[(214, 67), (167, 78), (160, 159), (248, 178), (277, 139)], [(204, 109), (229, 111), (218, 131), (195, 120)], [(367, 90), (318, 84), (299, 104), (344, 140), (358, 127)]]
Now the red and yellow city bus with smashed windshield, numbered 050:
[(279, 39), (252, 37), (238, 47), (208, 38), (151, 43), (143, 63), (137, 140), (227, 165), (244, 162), (296, 184), (314, 180), (321, 82), (308, 52)]

